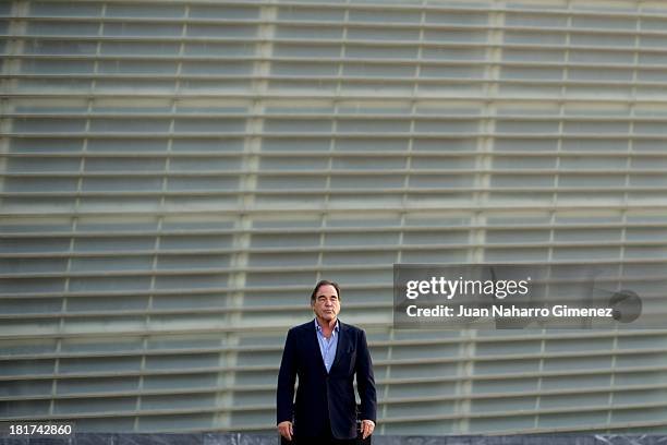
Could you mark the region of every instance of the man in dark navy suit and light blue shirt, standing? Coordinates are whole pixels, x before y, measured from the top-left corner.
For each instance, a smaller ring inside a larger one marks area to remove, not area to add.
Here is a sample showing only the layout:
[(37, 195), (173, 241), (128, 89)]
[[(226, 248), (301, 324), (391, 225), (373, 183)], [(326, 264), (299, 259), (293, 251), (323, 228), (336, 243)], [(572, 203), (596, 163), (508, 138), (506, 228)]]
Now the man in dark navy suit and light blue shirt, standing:
[[(338, 320), (340, 289), (319, 281), (311, 294), (315, 320), (288, 333), (278, 374), (278, 432), (299, 444), (353, 444), (361, 398), (361, 435), (375, 429), (377, 401), (366, 334)], [(294, 381), (299, 389), (294, 402)], [(292, 423), (293, 421), (293, 423)]]

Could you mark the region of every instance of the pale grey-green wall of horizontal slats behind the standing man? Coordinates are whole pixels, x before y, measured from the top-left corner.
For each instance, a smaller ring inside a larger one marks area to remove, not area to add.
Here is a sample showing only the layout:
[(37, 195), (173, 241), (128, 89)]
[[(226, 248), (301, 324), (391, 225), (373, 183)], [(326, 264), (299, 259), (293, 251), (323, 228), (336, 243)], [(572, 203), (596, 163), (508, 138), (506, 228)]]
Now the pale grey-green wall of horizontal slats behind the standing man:
[(380, 434), (667, 431), (667, 328), (391, 327), (397, 262), (665, 272), (665, 2), (14, 0), (0, 52), (0, 420), (272, 431), (329, 278)]

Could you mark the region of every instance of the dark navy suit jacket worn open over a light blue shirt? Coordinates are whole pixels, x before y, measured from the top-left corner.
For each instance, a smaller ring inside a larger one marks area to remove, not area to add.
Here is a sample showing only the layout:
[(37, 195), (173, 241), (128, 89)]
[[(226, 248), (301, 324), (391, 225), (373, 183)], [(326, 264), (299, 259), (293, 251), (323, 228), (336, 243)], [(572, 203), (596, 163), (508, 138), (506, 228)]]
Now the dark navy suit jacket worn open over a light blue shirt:
[[(312, 320), (288, 332), (278, 374), (277, 420), (278, 423), (286, 420), (293, 421), (295, 437), (320, 435), (327, 424), (327, 414), (333, 437), (356, 437), (354, 374), (361, 398), (359, 418), (375, 422), (377, 410), (375, 378), (366, 333), (340, 320), (338, 322), (340, 327), (338, 346), (328, 374), (319, 351), (315, 321)], [(296, 375), (299, 375), (299, 388), (294, 402)]]

